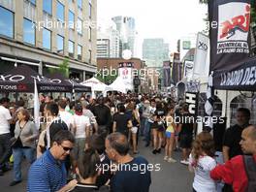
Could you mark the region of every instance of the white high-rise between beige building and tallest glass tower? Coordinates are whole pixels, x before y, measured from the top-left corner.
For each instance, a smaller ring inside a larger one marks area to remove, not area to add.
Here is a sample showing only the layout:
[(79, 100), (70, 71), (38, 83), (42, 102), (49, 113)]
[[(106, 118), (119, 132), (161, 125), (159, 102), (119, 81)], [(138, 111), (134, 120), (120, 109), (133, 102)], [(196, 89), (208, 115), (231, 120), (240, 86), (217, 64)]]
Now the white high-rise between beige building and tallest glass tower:
[(110, 25), (98, 27), (97, 30), (97, 57), (119, 57), (119, 32), (114, 22)]

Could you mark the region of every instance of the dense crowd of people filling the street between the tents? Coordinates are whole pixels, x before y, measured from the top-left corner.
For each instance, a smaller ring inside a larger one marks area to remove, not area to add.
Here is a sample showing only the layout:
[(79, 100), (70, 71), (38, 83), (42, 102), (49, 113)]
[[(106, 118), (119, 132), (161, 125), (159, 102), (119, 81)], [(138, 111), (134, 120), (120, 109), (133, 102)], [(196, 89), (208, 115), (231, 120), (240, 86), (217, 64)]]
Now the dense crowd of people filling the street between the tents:
[(109, 94), (71, 101), (40, 95), (40, 102), (37, 127), (24, 100), (0, 100), (0, 176), (13, 161), (10, 186), (22, 181), (25, 157), (31, 164), (27, 191), (148, 192), (150, 170), (138, 169), (150, 167), (138, 154), (142, 138), (170, 164), (177, 161), (174, 150), (181, 151), (180, 163), (195, 173), (193, 191), (256, 191), (256, 169), (247, 169), (256, 165), (256, 128), (247, 109), (238, 109), (237, 124), (226, 129), (219, 149), (208, 131), (197, 135), (189, 106), (172, 98)]

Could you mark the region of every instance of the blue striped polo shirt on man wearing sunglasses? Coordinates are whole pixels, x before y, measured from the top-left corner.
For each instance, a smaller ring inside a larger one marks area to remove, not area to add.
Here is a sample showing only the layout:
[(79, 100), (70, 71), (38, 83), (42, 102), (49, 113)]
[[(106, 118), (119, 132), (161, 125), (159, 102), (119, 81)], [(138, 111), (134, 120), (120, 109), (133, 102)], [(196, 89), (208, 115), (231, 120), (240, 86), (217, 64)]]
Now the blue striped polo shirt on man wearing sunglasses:
[(47, 150), (30, 167), (27, 183), (29, 192), (55, 192), (66, 184), (67, 172), (64, 162), (54, 159)]

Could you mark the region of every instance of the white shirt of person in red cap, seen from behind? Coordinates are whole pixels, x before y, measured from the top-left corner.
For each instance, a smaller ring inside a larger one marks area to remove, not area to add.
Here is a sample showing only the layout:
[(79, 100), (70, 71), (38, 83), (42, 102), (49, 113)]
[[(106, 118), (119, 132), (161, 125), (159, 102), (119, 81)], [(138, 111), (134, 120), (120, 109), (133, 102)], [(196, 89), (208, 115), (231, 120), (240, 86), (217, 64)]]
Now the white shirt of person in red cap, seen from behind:
[(75, 114), (73, 125), (77, 127), (75, 138), (85, 138), (85, 127), (90, 126), (90, 119), (88, 116)]

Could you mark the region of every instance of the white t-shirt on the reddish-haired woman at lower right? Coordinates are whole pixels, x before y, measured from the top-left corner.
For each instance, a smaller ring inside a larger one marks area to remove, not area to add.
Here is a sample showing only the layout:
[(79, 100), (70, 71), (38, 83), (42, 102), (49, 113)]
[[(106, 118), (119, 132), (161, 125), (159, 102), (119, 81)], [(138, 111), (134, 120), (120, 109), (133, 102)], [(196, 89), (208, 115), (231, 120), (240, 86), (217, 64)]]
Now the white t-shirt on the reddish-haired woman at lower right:
[(200, 192), (216, 192), (216, 183), (210, 178), (209, 172), (216, 167), (216, 161), (209, 156), (201, 156), (197, 166), (193, 166), (194, 159), (189, 155), (189, 165), (194, 168), (195, 177), (193, 188)]

